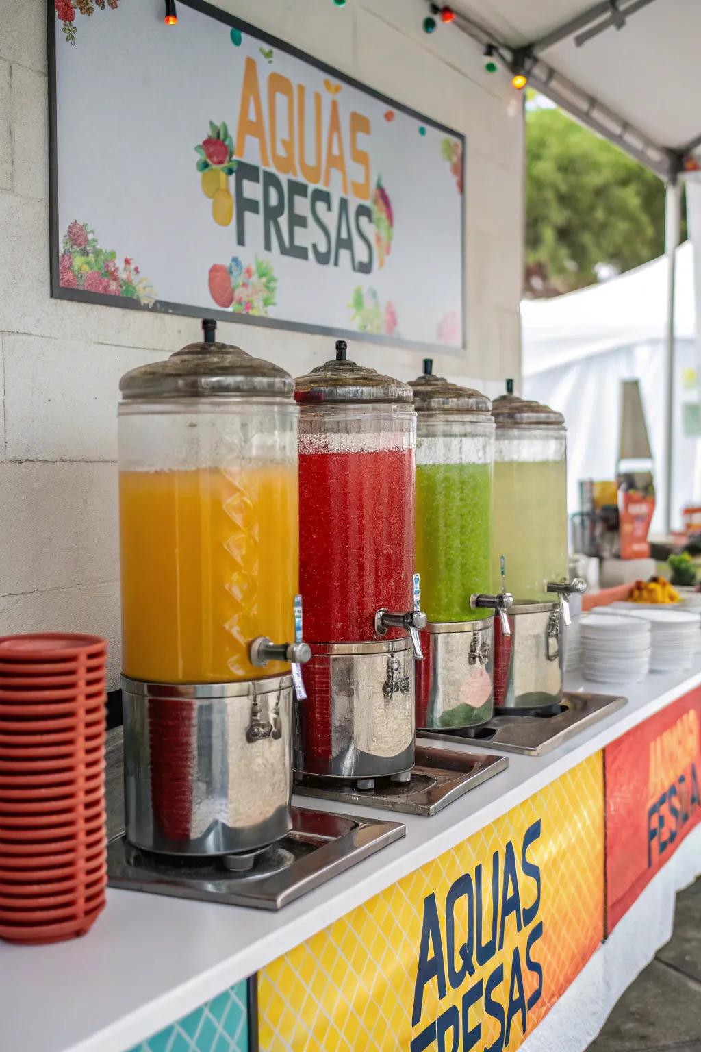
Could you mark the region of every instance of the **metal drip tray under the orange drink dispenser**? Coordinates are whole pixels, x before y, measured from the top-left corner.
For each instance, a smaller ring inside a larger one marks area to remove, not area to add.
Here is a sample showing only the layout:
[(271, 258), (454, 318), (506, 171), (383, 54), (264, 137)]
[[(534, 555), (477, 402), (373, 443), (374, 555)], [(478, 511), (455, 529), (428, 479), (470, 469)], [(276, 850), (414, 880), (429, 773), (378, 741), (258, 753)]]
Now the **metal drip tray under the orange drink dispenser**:
[(112, 888), (279, 910), (399, 839), (401, 822), (292, 808), (292, 829), (257, 853), (186, 858), (140, 851), (120, 836), (107, 849)]

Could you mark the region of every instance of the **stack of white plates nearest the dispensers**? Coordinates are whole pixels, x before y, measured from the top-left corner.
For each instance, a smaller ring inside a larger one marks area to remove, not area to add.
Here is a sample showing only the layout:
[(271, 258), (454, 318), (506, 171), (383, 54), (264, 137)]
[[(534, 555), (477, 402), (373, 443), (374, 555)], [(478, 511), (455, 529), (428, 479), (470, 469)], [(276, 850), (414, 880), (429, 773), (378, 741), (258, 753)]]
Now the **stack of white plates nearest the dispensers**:
[(650, 623), (623, 613), (582, 616), (582, 675), (595, 683), (637, 683), (650, 671)]

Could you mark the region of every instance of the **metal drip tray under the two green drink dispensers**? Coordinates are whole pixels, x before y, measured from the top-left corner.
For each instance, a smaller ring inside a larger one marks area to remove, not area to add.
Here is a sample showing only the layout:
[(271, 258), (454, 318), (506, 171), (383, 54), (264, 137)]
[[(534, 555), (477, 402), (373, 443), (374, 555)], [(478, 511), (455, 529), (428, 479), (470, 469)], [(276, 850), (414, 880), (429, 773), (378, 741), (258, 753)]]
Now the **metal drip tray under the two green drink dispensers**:
[(542, 756), (626, 704), (627, 697), (616, 694), (571, 694), (563, 691), (559, 711), (554, 714), (534, 715), (512, 709), (494, 715), (472, 733), (424, 730), (420, 733), (422, 737), (439, 739), (441, 742), (452, 739), (480, 748)]

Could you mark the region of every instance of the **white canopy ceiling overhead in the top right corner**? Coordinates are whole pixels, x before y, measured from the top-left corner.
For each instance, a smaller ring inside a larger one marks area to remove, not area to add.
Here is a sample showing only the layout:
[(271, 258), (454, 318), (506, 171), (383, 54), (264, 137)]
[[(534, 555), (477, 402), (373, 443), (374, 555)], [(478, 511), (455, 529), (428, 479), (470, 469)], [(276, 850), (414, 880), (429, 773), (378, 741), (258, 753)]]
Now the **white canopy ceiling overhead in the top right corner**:
[(699, 0), (455, 0), (453, 6), (458, 24), (480, 42), (503, 45), (510, 58), (525, 48), (537, 88), (640, 151), (660, 174), (674, 164), (667, 151), (698, 145)]

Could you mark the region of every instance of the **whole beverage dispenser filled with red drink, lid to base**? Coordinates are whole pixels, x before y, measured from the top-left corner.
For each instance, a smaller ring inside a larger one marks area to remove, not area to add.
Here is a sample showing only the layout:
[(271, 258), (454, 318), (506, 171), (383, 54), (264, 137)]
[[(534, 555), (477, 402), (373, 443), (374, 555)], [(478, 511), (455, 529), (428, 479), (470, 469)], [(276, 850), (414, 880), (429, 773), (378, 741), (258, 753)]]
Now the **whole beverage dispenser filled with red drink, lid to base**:
[(416, 419), (408, 384), (336, 357), (295, 381), (300, 587), (312, 658), (298, 705), (300, 774), (408, 781), (414, 658)]

